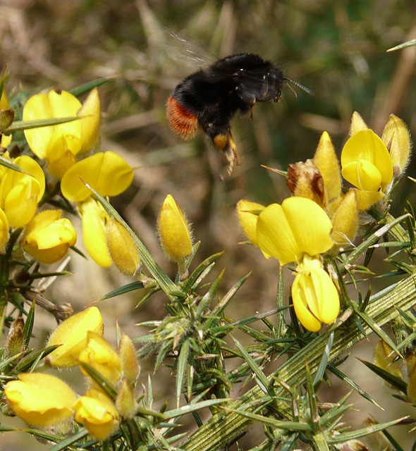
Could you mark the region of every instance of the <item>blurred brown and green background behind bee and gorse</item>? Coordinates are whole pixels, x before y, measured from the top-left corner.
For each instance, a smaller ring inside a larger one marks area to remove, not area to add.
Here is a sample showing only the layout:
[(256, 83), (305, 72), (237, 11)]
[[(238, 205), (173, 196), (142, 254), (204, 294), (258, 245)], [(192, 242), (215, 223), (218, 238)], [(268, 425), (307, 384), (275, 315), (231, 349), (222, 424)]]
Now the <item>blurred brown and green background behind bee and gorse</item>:
[[(111, 78), (99, 88), (102, 150), (121, 154), (136, 168), (133, 185), (112, 204), (160, 266), (175, 277), (176, 268), (162, 254), (155, 231), (161, 203), (172, 194), (191, 221), (195, 240), (201, 241), (191, 270), (210, 254), (225, 250), (210, 275), (213, 280), (227, 268), (222, 294), (252, 271), (228, 311), (233, 319), (273, 309), (276, 302), (277, 261), (267, 261), (258, 249), (238, 245), (245, 239), (235, 215), (238, 200), (269, 204), (289, 195), (286, 180), (260, 165), (286, 170), (289, 163), (312, 158), (324, 130), (340, 154), (353, 111), (379, 134), (389, 114), (396, 114), (415, 136), (416, 49), (386, 53), (416, 38), (414, 1), (0, 0), (0, 18), (0, 63), (11, 74), (6, 85), (9, 97), (20, 89), (27, 94), (49, 88), (70, 90), (97, 78)], [(202, 135), (190, 142), (172, 135), (165, 116), (166, 99), (178, 82), (200, 66), (248, 51), (276, 63), (287, 78), (312, 89), (313, 95), (285, 87), (278, 104), (255, 105), (252, 121), (237, 115), (232, 130), (241, 165), (221, 183), (221, 154)], [(415, 160), (410, 163), (408, 175), (415, 177), (415, 165)], [(414, 185), (403, 179), (393, 197), (393, 215), (403, 214), (406, 199), (414, 204), (415, 193)], [(375, 276), (391, 270), (386, 269), (384, 257), (374, 259)], [(71, 271), (74, 275), (58, 280), (47, 297), (70, 302), (75, 311), (130, 281), (115, 268), (98, 268), (75, 254)], [(288, 289), (290, 271), (285, 277)], [(380, 283), (374, 277), (369, 283), (375, 292), (393, 281)], [(367, 286), (362, 285), (363, 292)], [(106, 315), (107, 340), (115, 341), (115, 317), (122, 330), (135, 338), (147, 332), (135, 323), (166, 315), (163, 295), (132, 314), (143, 294), (99, 304)], [(352, 296), (356, 299), (357, 293)], [(54, 318), (39, 312), (37, 321), (42, 342), (54, 328)], [(371, 338), (354, 348), (353, 355), (371, 360), (376, 341)], [(276, 365), (271, 362), (270, 371)], [(369, 413), (378, 421), (407, 413), (403, 403), (393, 400), (376, 376), (353, 357), (342, 369), (388, 407), (382, 412), (353, 397), (360, 412), (347, 416), (348, 424), (359, 427)], [(142, 362), (142, 371), (144, 375), (152, 371), (152, 362)], [(169, 369), (161, 373), (159, 380), (164, 383), (154, 386), (160, 403), (171, 397), (174, 386), (164, 379), (169, 378)], [(81, 378), (80, 374), (71, 377)], [(338, 400), (348, 391), (333, 382), (331, 388), (321, 389), (325, 400)], [(403, 431), (406, 435), (408, 429)], [(245, 446), (256, 443), (256, 434), (255, 430), (247, 434)], [(18, 440), (13, 433), (13, 445), (4, 449), (20, 449)], [(32, 440), (32, 446), (44, 449), (35, 443)]]

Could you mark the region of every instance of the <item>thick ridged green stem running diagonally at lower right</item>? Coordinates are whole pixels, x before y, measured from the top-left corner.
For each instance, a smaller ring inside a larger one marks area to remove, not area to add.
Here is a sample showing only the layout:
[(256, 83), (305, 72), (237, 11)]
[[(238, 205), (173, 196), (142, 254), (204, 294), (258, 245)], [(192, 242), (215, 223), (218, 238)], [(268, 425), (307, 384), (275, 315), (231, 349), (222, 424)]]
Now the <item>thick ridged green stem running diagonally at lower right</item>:
[[(388, 289), (372, 296), (366, 309), (367, 315), (381, 327), (389, 321), (393, 321), (399, 316), (396, 307), (407, 311), (416, 304), (416, 276), (409, 276), (401, 280), (397, 285), (392, 285)], [(371, 328), (367, 324), (362, 324), (365, 333), (372, 333)], [(357, 328), (355, 323), (347, 319), (345, 323), (338, 320), (333, 326), (314, 338), (309, 345), (305, 346), (300, 352), (288, 359), (278, 370), (271, 376), (276, 376), (280, 381), (288, 385), (299, 385), (305, 383), (305, 360), (310, 367), (310, 371), (317, 371), (319, 362), (322, 359), (326, 343), (329, 335), (335, 329), (334, 344), (331, 348), (329, 362), (334, 361), (341, 354), (345, 354), (348, 348), (362, 340), (363, 335)], [(286, 395), (284, 388), (276, 388), (276, 397)], [(258, 406), (258, 401), (264, 397), (264, 393), (255, 386), (249, 390), (239, 400), (233, 402), (228, 407), (239, 409), (244, 404), (252, 405), (253, 409)], [(279, 400), (276, 400), (276, 407), (279, 408)], [(282, 403), (282, 410), (286, 404)], [(236, 414), (235, 412), (224, 412), (212, 416), (206, 424), (199, 428), (195, 433), (190, 435), (188, 440), (178, 445), (181, 450), (185, 451), (210, 451), (216, 450), (223, 446), (229, 440), (235, 438), (243, 429), (247, 428), (252, 420), (245, 416)]]

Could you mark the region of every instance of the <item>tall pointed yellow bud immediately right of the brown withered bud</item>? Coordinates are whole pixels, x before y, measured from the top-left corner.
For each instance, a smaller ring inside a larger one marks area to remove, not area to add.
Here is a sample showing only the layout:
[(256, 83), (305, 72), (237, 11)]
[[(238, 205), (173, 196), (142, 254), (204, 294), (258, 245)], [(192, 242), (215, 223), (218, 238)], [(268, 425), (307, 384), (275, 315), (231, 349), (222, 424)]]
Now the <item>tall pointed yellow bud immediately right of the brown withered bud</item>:
[(327, 132), (323, 132), (313, 162), (317, 165), (326, 193), (326, 203), (334, 201), (341, 193), (341, 168), (334, 146)]

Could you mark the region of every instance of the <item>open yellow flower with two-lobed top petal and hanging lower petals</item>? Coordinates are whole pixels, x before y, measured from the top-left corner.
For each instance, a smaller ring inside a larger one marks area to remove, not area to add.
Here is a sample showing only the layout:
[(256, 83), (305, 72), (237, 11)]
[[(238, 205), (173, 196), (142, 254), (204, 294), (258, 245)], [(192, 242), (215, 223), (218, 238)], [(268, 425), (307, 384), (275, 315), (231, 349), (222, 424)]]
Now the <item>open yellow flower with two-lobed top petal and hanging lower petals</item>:
[[(252, 213), (257, 219), (254, 242), (264, 256), (275, 257), (281, 265), (297, 264), (292, 297), (299, 321), (312, 331), (319, 330), (321, 323), (335, 321), (340, 308), (338, 292), (320, 257), (334, 245), (325, 211), (306, 197), (289, 197), (281, 205), (256, 210)], [(239, 218), (243, 230), (252, 235), (253, 219), (241, 214)]]

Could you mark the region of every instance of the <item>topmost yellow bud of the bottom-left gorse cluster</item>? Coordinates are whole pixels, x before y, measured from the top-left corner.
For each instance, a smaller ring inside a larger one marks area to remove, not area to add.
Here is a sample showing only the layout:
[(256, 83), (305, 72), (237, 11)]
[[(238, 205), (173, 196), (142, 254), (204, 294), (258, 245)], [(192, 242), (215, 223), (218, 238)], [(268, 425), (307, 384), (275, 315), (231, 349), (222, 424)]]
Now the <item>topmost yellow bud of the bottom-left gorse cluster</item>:
[(49, 338), (48, 346), (61, 346), (45, 358), (47, 364), (61, 368), (78, 365), (78, 356), (87, 346), (87, 333), (90, 330), (99, 335), (102, 335), (104, 330), (97, 307), (90, 307), (70, 316), (54, 330)]

